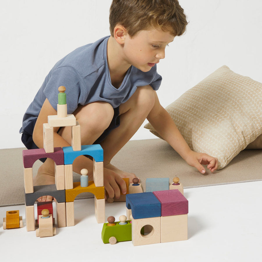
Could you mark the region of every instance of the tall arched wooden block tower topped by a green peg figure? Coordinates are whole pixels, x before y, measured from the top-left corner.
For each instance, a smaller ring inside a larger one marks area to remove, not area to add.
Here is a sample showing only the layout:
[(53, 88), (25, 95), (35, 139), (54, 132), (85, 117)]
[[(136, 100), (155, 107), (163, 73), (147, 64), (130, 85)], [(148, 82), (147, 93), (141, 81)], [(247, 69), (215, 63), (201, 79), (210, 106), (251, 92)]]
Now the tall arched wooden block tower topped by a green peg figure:
[[(44, 195), (56, 199), (58, 227), (74, 226), (74, 200), (82, 192), (95, 196), (95, 216), (98, 223), (105, 222), (105, 188), (103, 176), (103, 149), (100, 145), (81, 146), (80, 125), (73, 114), (67, 114), (65, 87), (59, 87), (57, 115), (48, 116), (43, 124), (44, 148), (23, 151), (24, 189), (26, 205), (26, 229), (35, 230), (34, 203)], [(72, 146), (54, 148), (54, 127), (71, 126)], [(93, 181), (81, 187), (73, 183), (73, 161), (80, 155), (93, 157)], [(55, 184), (33, 186), (32, 167), (40, 158), (51, 158), (55, 162)]]

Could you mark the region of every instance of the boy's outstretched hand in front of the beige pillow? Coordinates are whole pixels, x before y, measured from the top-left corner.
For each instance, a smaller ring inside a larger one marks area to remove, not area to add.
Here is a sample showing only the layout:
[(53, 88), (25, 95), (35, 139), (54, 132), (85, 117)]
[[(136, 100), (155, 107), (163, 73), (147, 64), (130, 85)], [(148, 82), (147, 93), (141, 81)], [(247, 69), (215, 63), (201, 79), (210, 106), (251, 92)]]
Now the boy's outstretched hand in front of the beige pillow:
[(202, 164), (207, 165), (207, 168), (211, 172), (214, 172), (218, 166), (218, 159), (216, 157), (211, 157), (210, 155), (207, 155), (204, 153), (197, 153), (194, 151), (191, 151), (187, 155), (187, 158), (185, 159), (185, 161), (190, 166), (197, 168), (198, 171), (201, 172), (202, 174), (206, 173), (206, 170), (202, 166)]

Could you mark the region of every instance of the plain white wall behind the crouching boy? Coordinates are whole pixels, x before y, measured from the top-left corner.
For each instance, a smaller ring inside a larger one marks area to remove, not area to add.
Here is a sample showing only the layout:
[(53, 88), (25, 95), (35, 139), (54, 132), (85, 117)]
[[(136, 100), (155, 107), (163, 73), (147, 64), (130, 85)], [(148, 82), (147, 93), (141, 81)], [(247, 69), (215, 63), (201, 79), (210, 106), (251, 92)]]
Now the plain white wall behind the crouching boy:
[[(0, 148), (22, 147), (26, 108), (53, 65), (109, 35), (111, 0), (13, 0), (0, 8)], [(262, 82), (262, 1), (180, 0), (190, 21), (158, 64), (165, 107), (222, 65)], [(132, 139), (155, 138), (140, 128)]]

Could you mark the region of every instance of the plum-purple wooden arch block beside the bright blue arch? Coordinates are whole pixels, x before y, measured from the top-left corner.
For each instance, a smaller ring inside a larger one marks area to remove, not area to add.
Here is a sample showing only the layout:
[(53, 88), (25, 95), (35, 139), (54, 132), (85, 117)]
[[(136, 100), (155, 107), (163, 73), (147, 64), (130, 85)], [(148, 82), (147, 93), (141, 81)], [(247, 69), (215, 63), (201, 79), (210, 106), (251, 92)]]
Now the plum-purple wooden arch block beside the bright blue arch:
[(24, 168), (33, 167), (34, 162), (39, 158), (51, 158), (56, 165), (64, 164), (64, 151), (61, 147), (55, 147), (54, 153), (45, 153), (44, 148), (23, 150)]

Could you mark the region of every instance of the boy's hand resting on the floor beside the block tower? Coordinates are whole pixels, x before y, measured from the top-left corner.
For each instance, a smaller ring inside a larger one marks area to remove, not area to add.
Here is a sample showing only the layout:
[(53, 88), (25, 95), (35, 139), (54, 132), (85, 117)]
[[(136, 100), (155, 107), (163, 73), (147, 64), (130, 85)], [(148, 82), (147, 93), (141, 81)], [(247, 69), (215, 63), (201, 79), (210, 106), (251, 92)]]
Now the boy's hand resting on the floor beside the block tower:
[(127, 189), (125, 180), (116, 174), (116, 172), (104, 168), (104, 186), (109, 198), (120, 197), (120, 189), (118, 185), (120, 186), (122, 193), (126, 194)]

